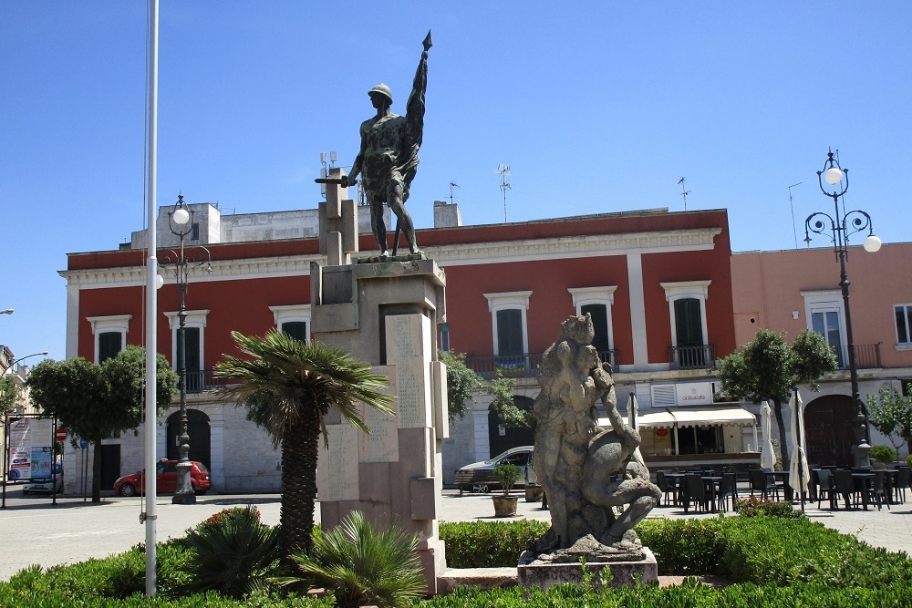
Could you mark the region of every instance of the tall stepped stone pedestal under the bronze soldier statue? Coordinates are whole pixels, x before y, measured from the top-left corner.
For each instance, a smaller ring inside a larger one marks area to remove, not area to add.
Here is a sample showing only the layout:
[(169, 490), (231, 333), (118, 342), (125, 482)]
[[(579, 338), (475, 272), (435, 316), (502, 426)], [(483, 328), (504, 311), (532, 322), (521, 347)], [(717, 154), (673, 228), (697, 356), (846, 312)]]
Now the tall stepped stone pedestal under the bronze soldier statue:
[(394, 520), (419, 536), (429, 593), (446, 568), (437, 516), (441, 446), (449, 436), (446, 367), (437, 325), (445, 320), (442, 270), (433, 260), (311, 268), (314, 339), (337, 345), (389, 378), (395, 417), (365, 408), (369, 434), (326, 418), (317, 488), (323, 527), (363, 511), (380, 528)]

